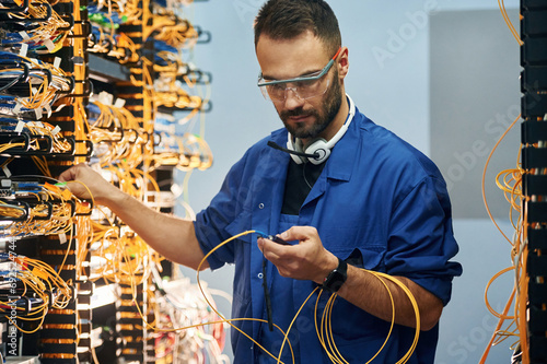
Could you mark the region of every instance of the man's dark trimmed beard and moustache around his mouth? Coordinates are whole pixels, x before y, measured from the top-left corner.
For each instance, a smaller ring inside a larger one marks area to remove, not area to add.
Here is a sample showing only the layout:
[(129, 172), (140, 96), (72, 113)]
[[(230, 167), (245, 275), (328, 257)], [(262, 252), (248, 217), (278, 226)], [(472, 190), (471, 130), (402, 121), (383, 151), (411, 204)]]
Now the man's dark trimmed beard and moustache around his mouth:
[[(284, 127), (294, 138), (300, 139), (314, 139), (317, 138), (325, 129), (333, 122), (338, 110), (341, 107), (341, 86), (338, 81), (338, 72), (335, 72), (333, 78), (333, 85), (328, 87), (326, 94), (324, 95), (323, 107), (321, 111), (316, 108), (311, 110), (304, 110), (302, 107), (293, 110), (284, 110), (279, 114), (279, 117), (284, 124)], [(296, 125), (292, 126), (287, 122), (287, 119), (291, 116), (313, 116), (315, 117), (315, 122), (312, 126)]]

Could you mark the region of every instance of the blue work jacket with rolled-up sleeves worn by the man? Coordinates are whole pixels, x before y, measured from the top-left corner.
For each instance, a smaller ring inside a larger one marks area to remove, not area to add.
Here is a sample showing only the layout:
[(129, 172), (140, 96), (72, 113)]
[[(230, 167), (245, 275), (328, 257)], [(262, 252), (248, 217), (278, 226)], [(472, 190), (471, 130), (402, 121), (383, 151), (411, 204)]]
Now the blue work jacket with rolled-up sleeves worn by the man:
[[(287, 130), (276, 130), (253, 145), (231, 168), (211, 204), (198, 213), (195, 230), (205, 254), (245, 231), (280, 233), (290, 155), (267, 146), (268, 140), (284, 144)], [(325, 248), (337, 257), (351, 258), (368, 270), (407, 277), (446, 304), (452, 279), (462, 273), (462, 267), (450, 261), (457, 253), (457, 244), (446, 186), (435, 165), (359, 110), (325, 163), (300, 210), (298, 224), (315, 226)], [(232, 318), (266, 318), (263, 255), (256, 240), (256, 234), (244, 235), (208, 258), (211, 269), (235, 263)], [(278, 273), (270, 266), (267, 275), (272, 274)], [(294, 314), (314, 287), (311, 281), (293, 280)], [(322, 296), (319, 316), (327, 294)], [(274, 308), (283, 304), (276, 302), (275, 296), (271, 301)], [(304, 306), (292, 329), (300, 337), (293, 349), (299, 350), (301, 363), (330, 363), (315, 331), (315, 302), (316, 295)], [(251, 320), (234, 324), (260, 340), (263, 324)], [(339, 297), (331, 325), (336, 345), (349, 363), (368, 362), (389, 330), (389, 322)], [(433, 363), (438, 330), (435, 327), (421, 332), (408, 363)], [(396, 363), (410, 348), (414, 336), (414, 329), (395, 325), (373, 363)], [(254, 363), (256, 351), (260, 350), (234, 329), (232, 347), (235, 363)]]

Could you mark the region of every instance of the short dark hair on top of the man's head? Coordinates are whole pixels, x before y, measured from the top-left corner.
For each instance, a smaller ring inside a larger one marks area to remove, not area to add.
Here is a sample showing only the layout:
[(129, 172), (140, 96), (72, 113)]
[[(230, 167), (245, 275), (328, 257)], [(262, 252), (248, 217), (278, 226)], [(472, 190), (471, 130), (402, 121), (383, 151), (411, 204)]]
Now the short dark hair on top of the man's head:
[(255, 48), (260, 35), (293, 39), (311, 31), (333, 55), (341, 46), (336, 15), (324, 0), (268, 0), (255, 20)]

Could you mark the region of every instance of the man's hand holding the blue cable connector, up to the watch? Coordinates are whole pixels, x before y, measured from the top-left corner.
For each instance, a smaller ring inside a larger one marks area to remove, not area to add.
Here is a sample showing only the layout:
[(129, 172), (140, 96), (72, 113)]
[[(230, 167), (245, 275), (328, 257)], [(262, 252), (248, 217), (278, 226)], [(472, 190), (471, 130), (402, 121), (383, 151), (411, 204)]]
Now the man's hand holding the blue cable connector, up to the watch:
[(258, 238), (258, 248), (279, 274), (322, 284), (327, 274), (338, 267), (338, 259), (323, 247), (315, 227), (293, 226), (279, 235), (283, 240), (299, 240), (298, 245), (280, 245)]

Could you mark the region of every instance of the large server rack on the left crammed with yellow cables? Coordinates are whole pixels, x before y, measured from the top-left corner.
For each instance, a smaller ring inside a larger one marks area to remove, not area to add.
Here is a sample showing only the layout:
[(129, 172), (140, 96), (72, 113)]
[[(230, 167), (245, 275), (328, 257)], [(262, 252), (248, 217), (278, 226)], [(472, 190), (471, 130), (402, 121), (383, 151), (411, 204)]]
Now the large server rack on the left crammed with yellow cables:
[[(0, 348), (12, 362), (146, 363), (160, 351), (161, 362), (177, 362), (147, 325), (158, 320), (150, 305), (161, 298), (149, 268), (161, 262), (154, 270), (172, 277), (173, 265), (56, 178), (92, 163), (113, 184), (171, 213), (173, 198), (165, 196), (174, 168), (210, 167), (199, 136), (160, 130), (156, 122), (160, 109), (170, 127), (173, 114), (191, 118), (211, 109), (190, 90), (210, 83), (210, 74), (183, 59), (184, 48), (210, 40), (182, 14), (191, 2), (0, 4), (0, 265), (7, 268)], [(178, 44), (164, 40), (165, 31)], [(159, 60), (161, 51), (166, 58)], [(123, 186), (115, 171), (127, 168), (143, 178)], [(105, 261), (109, 270), (97, 269)], [(135, 268), (130, 274), (127, 267)], [(97, 304), (97, 292), (110, 301)]]

